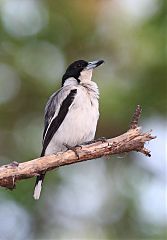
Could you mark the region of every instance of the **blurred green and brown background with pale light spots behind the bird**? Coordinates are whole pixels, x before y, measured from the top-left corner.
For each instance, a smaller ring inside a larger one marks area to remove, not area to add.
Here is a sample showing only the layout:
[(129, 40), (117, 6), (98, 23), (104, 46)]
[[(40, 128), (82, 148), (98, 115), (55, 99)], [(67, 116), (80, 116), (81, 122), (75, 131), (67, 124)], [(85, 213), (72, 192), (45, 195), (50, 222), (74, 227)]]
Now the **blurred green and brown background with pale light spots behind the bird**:
[(104, 59), (97, 137), (140, 124), (157, 139), (140, 153), (79, 163), (0, 189), (0, 240), (165, 239), (165, 0), (0, 0), (0, 163), (40, 155), (43, 111), (74, 60)]

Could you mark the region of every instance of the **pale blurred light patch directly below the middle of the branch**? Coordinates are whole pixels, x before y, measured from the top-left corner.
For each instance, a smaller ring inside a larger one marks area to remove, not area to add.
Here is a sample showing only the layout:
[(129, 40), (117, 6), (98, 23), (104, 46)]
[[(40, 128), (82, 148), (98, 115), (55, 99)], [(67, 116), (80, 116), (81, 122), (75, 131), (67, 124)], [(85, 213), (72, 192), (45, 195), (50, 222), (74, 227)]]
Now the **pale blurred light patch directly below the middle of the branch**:
[[(78, 168), (80, 171), (76, 171)], [(71, 171), (74, 171), (74, 174), (71, 174)], [(88, 164), (82, 163), (76, 169), (71, 168), (71, 171), (70, 167), (59, 171), (66, 185), (63, 188), (60, 186), (57, 191), (56, 205), (69, 215), (93, 217), (107, 194), (105, 164), (103, 161), (89, 162), (88, 167)]]

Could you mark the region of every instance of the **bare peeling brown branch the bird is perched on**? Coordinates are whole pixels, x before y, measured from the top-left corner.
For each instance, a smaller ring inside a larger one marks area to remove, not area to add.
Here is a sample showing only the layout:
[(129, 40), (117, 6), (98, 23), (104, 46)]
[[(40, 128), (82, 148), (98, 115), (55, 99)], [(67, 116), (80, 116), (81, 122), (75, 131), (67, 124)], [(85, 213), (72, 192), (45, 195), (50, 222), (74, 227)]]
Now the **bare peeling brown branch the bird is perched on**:
[(138, 105), (133, 115), (130, 129), (127, 132), (115, 138), (106, 140), (97, 139), (88, 144), (75, 147), (78, 156), (74, 151), (68, 150), (66, 152), (59, 152), (56, 155), (33, 159), (28, 162), (13, 162), (1, 166), (0, 186), (13, 189), (16, 181), (38, 176), (43, 171), (50, 171), (60, 166), (100, 158), (107, 155), (137, 151), (150, 157), (150, 151), (144, 147), (144, 144), (156, 137), (151, 135), (151, 131), (143, 133), (141, 128), (138, 127), (140, 115), (141, 107)]

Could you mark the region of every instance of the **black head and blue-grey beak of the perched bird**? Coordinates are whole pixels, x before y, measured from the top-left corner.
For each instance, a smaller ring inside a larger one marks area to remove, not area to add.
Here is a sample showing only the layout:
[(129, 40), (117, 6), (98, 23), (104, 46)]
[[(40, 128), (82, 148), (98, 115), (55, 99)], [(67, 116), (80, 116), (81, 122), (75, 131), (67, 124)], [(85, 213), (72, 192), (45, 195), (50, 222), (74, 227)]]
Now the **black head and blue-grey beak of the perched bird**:
[(85, 60), (77, 60), (70, 64), (63, 75), (62, 78), (62, 86), (64, 85), (66, 79), (73, 77), (75, 78), (78, 83), (80, 83), (79, 77), (80, 74), (83, 70), (90, 70), (93, 69), (99, 65), (101, 65), (104, 61), (103, 60), (98, 60), (98, 61), (93, 61), (93, 62), (87, 62)]

